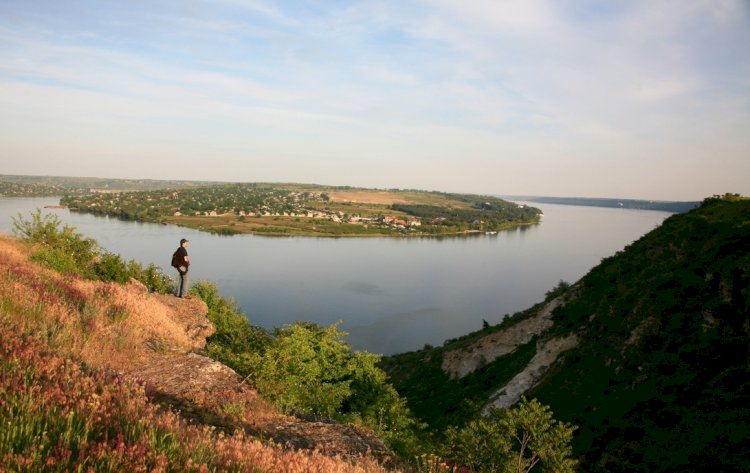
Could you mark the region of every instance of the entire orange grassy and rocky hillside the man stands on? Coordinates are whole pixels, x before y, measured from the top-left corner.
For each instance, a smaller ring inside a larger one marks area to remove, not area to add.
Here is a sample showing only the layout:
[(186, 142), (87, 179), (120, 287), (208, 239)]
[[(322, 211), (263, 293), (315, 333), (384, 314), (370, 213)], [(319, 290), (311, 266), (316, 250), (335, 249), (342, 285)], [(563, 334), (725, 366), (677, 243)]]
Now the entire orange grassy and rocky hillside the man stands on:
[(32, 251), (0, 236), (0, 471), (385, 471), (371, 431), (283, 415), (203, 356), (202, 300)]

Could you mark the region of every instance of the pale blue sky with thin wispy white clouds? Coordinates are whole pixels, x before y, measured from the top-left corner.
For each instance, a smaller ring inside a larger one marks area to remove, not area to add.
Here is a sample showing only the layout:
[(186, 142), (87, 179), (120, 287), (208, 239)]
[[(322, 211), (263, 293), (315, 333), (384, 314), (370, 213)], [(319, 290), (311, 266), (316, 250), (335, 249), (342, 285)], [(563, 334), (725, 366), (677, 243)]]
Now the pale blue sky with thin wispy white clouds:
[(750, 0), (0, 0), (0, 174), (750, 195)]

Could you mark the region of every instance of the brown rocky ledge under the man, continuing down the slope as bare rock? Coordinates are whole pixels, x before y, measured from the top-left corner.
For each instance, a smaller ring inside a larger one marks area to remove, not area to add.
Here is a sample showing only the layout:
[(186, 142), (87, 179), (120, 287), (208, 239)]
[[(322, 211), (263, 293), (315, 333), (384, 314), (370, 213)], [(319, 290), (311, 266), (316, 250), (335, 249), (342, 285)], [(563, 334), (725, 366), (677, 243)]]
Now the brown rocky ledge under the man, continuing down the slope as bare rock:
[[(130, 286), (139, 292), (145, 289), (135, 283)], [(368, 455), (381, 463), (393, 458), (383, 441), (367, 429), (280, 414), (234, 370), (200, 354), (206, 337), (215, 330), (206, 318), (208, 308), (200, 299), (161, 294), (145, 297), (166, 306), (167, 316), (185, 330), (191, 341), (187, 348), (164, 340), (150, 341), (150, 354), (125, 373), (143, 382), (155, 401), (192, 423), (227, 432), (241, 429), (289, 448), (342, 458)]]

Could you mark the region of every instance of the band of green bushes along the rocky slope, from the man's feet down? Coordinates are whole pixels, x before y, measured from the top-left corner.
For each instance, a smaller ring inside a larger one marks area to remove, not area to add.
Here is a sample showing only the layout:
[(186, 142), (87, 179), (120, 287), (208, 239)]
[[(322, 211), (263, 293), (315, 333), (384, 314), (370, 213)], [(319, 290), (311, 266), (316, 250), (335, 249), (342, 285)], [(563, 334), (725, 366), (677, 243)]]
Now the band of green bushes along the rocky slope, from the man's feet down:
[(419, 453), (419, 425), (376, 366), (379, 357), (352, 351), (336, 325), (297, 322), (268, 333), (252, 326), (215, 285), (201, 281), (190, 293), (206, 302), (216, 325), (207, 354), (282, 411), (364, 425), (398, 453)]

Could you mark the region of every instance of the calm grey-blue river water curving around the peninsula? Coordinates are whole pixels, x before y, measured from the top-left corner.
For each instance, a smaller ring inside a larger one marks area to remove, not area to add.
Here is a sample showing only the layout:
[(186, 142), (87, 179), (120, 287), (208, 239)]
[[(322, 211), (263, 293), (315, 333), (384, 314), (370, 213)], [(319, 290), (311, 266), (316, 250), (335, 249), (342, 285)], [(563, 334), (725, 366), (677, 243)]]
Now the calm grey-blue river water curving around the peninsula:
[[(11, 216), (56, 198), (0, 198), (0, 231)], [(396, 353), (441, 344), (541, 301), (558, 281), (582, 277), (658, 226), (664, 212), (534, 204), (542, 223), (463, 238), (275, 238), (216, 236), (159, 224), (45, 209), (104, 248), (156, 263), (190, 240), (191, 277), (218, 284), (255, 325), (296, 320), (349, 332), (354, 348)]]

